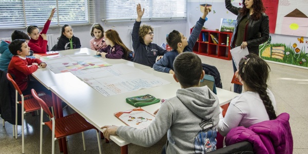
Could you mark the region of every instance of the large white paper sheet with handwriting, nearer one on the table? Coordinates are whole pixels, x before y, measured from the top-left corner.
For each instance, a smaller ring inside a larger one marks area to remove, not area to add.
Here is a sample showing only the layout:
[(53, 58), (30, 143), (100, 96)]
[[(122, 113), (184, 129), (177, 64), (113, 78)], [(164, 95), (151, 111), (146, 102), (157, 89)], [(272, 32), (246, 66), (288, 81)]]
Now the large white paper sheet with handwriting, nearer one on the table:
[(170, 83), (126, 64), (71, 71), (71, 73), (105, 97)]

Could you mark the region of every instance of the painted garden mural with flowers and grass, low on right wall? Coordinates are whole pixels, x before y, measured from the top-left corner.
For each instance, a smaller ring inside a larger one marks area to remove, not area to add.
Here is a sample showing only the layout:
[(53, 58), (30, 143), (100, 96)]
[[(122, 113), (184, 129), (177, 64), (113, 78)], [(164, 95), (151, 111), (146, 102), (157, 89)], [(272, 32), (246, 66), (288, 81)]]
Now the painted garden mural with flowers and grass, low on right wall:
[(282, 44), (274, 43), (271, 44), (271, 36), (268, 41), (261, 44), (259, 47), (260, 57), (264, 60), (280, 62), (285, 64), (298, 65), (303, 67), (308, 67), (308, 53), (306, 53), (306, 48), (308, 50), (308, 43), (299, 48), (298, 44), (304, 43), (303, 37), (298, 38), (298, 41), (293, 44)]

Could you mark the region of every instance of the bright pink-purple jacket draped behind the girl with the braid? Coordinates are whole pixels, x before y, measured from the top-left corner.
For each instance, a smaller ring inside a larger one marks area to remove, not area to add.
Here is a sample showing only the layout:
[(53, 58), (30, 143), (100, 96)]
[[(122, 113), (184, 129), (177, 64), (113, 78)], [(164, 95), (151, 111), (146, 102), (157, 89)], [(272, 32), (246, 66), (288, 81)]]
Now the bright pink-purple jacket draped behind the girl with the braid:
[(226, 136), (226, 145), (248, 141), (253, 144), (254, 153), (292, 153), (293, 137), (288, 113), (281, 113), (277, 119), (263, 121), (248, 128), (233, 128)]

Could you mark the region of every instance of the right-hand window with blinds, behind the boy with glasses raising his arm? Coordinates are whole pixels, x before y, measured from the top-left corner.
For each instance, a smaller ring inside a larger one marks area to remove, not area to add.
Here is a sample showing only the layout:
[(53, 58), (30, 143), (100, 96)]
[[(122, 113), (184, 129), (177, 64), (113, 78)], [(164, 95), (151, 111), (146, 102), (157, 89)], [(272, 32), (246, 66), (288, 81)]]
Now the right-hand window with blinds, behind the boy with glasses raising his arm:
[(101, 8), (103, 21), (136, 20), (137, 4), (145, 9), (142, 20), (186, 19), (186, 0), (105, 0)]

